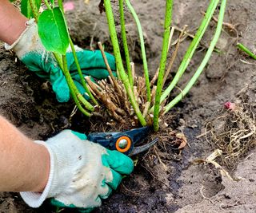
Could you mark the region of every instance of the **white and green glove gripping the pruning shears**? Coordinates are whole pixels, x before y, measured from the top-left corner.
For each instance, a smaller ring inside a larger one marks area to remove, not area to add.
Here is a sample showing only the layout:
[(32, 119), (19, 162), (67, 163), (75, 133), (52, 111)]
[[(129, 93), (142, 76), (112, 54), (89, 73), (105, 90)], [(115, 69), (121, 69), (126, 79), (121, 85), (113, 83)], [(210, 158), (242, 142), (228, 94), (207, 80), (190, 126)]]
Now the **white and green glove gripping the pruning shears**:
[(39, 207), (46, 198), (58, 207), (89, 212), (99, 207), (122, 180), (133, 171), (133, 161), (86, 140), (82, 133), (64, 130), (43, 141), (50, 153), (50, 175), (42, 193), (21, 192), (30, 207)]

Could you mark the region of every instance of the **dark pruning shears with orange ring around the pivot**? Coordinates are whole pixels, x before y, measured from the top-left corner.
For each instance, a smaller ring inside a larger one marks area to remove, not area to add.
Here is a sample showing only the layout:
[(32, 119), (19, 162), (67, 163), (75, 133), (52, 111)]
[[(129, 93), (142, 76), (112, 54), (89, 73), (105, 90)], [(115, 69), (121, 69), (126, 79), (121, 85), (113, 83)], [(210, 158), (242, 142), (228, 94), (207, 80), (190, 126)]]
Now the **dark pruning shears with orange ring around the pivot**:
[(90, 133), (88, 140), (101, 144), (110, 150), (118, 150), (126, 156), (134, 156), (140, 152), (144, 152), (158, 142), (155, 138), (148, 144), (141, 146), (134, 146), (141, 144), (146, 136), (150, 133), (150, 127), (134, 128), (125, 132), (93, 132)]

